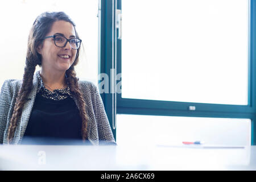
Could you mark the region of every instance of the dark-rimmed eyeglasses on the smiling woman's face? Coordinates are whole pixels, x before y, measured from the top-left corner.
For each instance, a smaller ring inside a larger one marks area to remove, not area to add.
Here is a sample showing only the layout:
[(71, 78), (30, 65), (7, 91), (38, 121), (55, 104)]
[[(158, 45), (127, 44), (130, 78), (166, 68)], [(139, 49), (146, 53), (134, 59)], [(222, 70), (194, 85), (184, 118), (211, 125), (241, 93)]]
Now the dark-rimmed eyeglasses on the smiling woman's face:
[(77, 38), (67, 39), (64, 36), (60, 36), (60, 35), (47, 36), (43, 39), (47, 39), (47, 38), (53, 38), (55, 46), (57, 47), (65, 47), (67, 45), (67, 42), (69, 42), (72, 49), (79, 49), (82, 42), (81, 39), (77, 39)]

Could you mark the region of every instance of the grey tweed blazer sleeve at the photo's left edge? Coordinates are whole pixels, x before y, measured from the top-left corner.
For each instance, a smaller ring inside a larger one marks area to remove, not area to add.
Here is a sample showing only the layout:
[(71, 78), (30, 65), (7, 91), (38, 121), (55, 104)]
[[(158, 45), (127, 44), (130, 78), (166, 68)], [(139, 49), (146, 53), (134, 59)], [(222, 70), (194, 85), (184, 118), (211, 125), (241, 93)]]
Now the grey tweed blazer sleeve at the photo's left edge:
[(3, 144), (3, 135), (6, 130), (8, 114), (11, 106), (11, 80), (3, 82), (0, 93), (0, 144)]

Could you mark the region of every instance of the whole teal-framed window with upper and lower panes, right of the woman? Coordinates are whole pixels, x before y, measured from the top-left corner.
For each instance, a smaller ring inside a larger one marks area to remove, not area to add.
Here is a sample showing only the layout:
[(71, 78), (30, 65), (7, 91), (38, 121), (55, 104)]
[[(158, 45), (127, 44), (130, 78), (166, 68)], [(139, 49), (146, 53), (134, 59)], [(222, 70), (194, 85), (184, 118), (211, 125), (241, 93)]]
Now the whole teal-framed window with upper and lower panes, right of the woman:
[[(110, 48), (101, 73), (121, 73), (115, 86), (121, 81), (122, 92), (102, 97), (119, 144), (130, 135), (147, 143), (164, 134), (166, 143), (176, 136), (176, 142), (255, 144), (254, 1), (122, 1), (121, 8), (121, 0), (113, 0), (104, 7), (113, 19), (105, 21), (112, 29), (105, 29)], [(188, 138), (167, 133), (189, 126), (195, 127)]]

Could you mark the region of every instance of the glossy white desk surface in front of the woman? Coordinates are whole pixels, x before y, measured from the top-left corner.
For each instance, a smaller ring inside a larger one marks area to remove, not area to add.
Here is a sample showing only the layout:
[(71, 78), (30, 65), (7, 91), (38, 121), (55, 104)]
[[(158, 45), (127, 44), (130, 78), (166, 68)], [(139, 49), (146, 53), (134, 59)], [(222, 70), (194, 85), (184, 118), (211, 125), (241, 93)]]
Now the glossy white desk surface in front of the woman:
[(206, 147), (0, 145), (0, 170), (256, 170), (256, 146)]

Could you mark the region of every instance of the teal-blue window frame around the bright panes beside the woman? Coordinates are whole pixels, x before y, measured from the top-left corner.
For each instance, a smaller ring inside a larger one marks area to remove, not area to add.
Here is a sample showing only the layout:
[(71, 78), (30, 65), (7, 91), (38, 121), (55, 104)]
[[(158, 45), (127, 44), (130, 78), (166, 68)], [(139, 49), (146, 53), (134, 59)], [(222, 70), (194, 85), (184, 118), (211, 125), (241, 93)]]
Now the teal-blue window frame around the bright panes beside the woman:
[[(121, 44), (117, 39), (115, 27), (115, 10), (121, 10), (121, 0), (100, 0), (105, 7), (104, 21), (101, 21), (101, 69), (100, 73), (107, 73), (110, 77), (110, 69), (115, 69), (115, 74), (122, 73)], [(139, 114), (139, 115), (166, 115), (180, 117), (211, 117), (211, 118), (246, 118), (251, 119), (251, 145), (256, 144), (256, 2), (249, 1), (249, 32), (248, 32), (248, 105), (206, 104), (197, 102), (174, 102), (140, 100), (122, 98), (121, 93), (102, 93), (102, 100), (109, 118), (110, 126), (116, 138), (115, 115)], [(103, 11), (102, 11), (103, 12)], [(102, 14), (103, 15), (103, 14)], [(112, 61), (108, 61), (112, 60)], [(99, 80), (100, 82), (101, 80)], [(120, 80), (115, 81), (117, 84)], [(110, 81), (109, 81), (110, 82)], [(196, 110), (189, 110), (189, 106), (195, 106)]]

